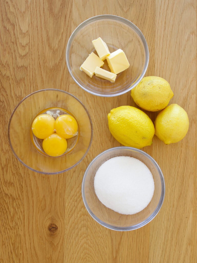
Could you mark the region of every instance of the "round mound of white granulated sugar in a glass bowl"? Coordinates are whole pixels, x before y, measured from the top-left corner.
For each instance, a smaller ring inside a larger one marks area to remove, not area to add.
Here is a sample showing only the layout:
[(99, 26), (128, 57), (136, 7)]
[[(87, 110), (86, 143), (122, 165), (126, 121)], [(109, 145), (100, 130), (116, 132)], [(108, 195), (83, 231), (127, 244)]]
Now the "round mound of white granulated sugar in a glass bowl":
[(150, 203), (155, 185), (144, 163), (133, 157), (117, 156), (99, 167), (94, 189), (105, 206), (120, 214), (132, 215)]

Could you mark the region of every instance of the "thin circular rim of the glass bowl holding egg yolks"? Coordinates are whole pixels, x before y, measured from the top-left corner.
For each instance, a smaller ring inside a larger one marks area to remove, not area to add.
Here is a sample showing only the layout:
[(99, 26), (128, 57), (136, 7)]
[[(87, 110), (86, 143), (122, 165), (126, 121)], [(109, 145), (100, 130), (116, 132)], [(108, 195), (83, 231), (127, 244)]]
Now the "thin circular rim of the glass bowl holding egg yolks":
[[(57, 92), (63, 92), (63, 93), (66, 93), (68, 95), (70, 95), (71, 97), (73, 97), (74, 99), (76, 99), (82, 106), (83, 108), (85, 109), (87, 115), (88, 115), (88, 118), (89, 118), (89, 121), (90, 121), (90, 126), (91, 126), (91, 138), (90, 138), (90, 143), (88, 145), (88, 148), (85, 152), (85, 154), (83, 155), (83, 157), (74, 165), (72, 165), (71, 167), (65, 169), (65, 170), (62, 170), (62, 171), (58, 171), (58, 172), (53, 172), (53, 173), (49, 173), (49, 172), (42, 172), (42, 171), (38, 171), (36, 169), (33, 169), (31, 168), (30, 166), (28, 166), (27, 164), (25, 164), (19, 157), (18, 155), (15, 153), (13, 147), (12, 147), (12, 143), (10, 141), (10, 123), (11, 123), (11, 120), (12, 120), (12, 117), (15, 113), (15, 111), (17, 110), (17, 108), (20, 106), (20, 104), (22, 104), (24, 102), (24, 100), (28, 99), (29, 97), (31, 97), (31, 95), (34, 95), (35, 93), (39, 93), (39, 92), (44, 92), (44, 91), (51, 91), (51, 90), (54, 90), (54, 91), (57, 91)], [(26, 97), (24, 97), (19, 103), (18, 105), (14, 108), (11, 116), (10, 116), (10, 119), (9, 119), (9, 123), (8, 123), (8, 141), (9, 141), (9, 145), (10, 145), (10, 148), (12, 149), (12, 152), (13, 154), (15, 155), (15, 157), (20, 161), (20, 163), (22, 163), (26, 168), (30, 169), (31, 171), (34, 171), (36, 173), (40, 173), (40, 174), (60, 174), (60, 173), (64, 173), (72, 168), (74, 168), (75, 166), (77, 166), (83, 159), (84, 157), (86, 156), (86, 154), (88, 153), (89, 149), (90, 149), (90, 146), (92, 144), (92, 139), (93, 139), (93, 124), (92, 124), (92, 119), (90, 117), (90, 114), (88, 112), (88, 110), (86, 109), (86, 107), (84, 106), (84, 104), (77, 98), (75, 97), (74, 95), (72, 95), (71, 93), (67, 92), (67, 91), (64, 91), (64, 90), (61, 90), (61, 89), (41, 89), (41, 90), (36, 90), (35, 92), (32, 92), (30, 94), (28, 94)]]

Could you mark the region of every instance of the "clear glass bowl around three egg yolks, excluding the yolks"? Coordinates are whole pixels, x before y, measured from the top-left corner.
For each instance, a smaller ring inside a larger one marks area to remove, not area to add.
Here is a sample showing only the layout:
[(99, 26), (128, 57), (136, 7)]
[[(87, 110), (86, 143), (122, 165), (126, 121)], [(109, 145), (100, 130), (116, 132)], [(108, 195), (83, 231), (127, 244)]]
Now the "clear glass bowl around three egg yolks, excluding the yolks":
[[(78, 123), (78, 134), (67, 140), (66, 153), (58, 157), (46, 155), (31, 131), (35, 117), (52, 109), (73, 115)], [(92, 133), (92, 121), (84, 105), (58, 89), (43, 89), (25, 97), (14, 109), (8, 125), (9, 143), (15, 156), (27, 168), (42, 174), (58, 174), (76, 166), (89, 150)]]

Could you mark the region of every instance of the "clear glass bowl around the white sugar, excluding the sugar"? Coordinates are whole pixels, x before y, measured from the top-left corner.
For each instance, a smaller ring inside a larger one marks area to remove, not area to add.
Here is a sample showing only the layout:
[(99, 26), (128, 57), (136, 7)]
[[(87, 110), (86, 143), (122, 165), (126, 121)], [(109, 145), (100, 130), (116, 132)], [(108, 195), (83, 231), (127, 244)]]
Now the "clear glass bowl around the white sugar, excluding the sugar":
[[(94, 191), (94, 176), (105, 161), (116, 156), (130, 156), (142, 161), (151, 171), (155, 190), (148, 206), (133, 215), (119, 214), (103, 205)], [(89, 214), (102, 226), (118, 231), (140, 228), (150, 222), (159, 212), (165, 195), (165, 181), (156, 161), (142, 150), (132, 147), (115, 147), (100, 153), (86, 169), (82, 181), (82, 198)]]

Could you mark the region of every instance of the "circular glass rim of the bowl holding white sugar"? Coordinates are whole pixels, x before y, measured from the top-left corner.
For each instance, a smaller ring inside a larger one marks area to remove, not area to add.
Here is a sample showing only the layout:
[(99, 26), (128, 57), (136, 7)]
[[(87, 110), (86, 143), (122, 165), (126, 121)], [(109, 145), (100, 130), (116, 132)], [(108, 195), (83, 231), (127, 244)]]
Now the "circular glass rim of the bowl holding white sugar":
[[(157, 169), (158, 173), (159, 173), (159, 176), (160, 176), (160, 180), (161, 180), (161, 196), (160, 196), (160, 199), (159, 199), (159, 202), (157, 204), (157, 207), (156, 209), (153, 211), (153, 213), (146, 219), (146, 220), (143, 220), (142, 222), (136, 224), (136, 225), (133, 225), (133, 226), (113, 226), (113, 225), (110, 225), (110, 224), (107, 224), (105, 222), (103, 222), (102, 220), (100, 220), (97, 216), (94, 215), (94, 213), (90, 210), (88, 204), (87, 204), (87, 201), (86, 201), (86, 197), (85, 197), (85, 190), (84, 190), (84, 187), (85, 187), (85, 180), (86, 180), (86, 175), (87, 175), (87, 172), (90, 168), (90, 166), (92, 166), (92, 164), (94, 163), (94, 161), (96, 159), (98, 159), (101, 155), (109, 152), (109, 151), (113, 151), (113, 150), (116, 150), (116, 149), (121, 149), (121, 150), (132, 150), (132, 151), (136, 151), (138, 153), (141, 153), (142, 155), (146, 156), (150, 161), (152, 161), (152, 163), (155, 165), (155, 168)], [(81, 191), (82, 191), (82, 199), (83, 199), (83, 203), (88, 211), (88, 213), (90, 214), (90, 216), (92, 216), (92, 218), (97, 221), (100, 225), (108, 228), (108, 229), (111, 229), (111, 230), (116, 230), (116, 231), (130, 231), (130, 230), (135, 230), (135, 229), (138, 229), (142, 226), (145, 226), (146, 224), (148, 224), (150, 221), (153, 220), (153, 218), (155, 218), (155, 216), (158, 214), (159, 210), (161, 209), (162, 207), (162, 204), (163, 204), (163, 201), (164, 201), (164, 197), (165, 197), (165, 191), (166, 191), (166, 188), (165, 188), (165, 180), (164, 180), (164, 176), (163, 176), (163, 173), (161, 171), (161, 168), (159, 167), (159, 165), (157, 164), (157, 162), (149, 155), (147, 154), (145, 151), (142, 151), (140, 149), (137, 149), (137, 148), (134, 148), (134, 147), (128, 147), (128, 146), (118, 146), (118, 147), (114, 147), (114, 148), (110, 148), (110, 149), (107, 149), (105, 151), (103, 151), (102, 153), (98, 154), (91, 162), (90, 164), (88, 165), (85, 173), (84, 173), (84, 176), (83, 176), (83, 180), (82, 180), (82, 188), (81, 188)]]

